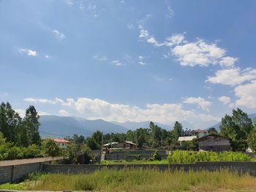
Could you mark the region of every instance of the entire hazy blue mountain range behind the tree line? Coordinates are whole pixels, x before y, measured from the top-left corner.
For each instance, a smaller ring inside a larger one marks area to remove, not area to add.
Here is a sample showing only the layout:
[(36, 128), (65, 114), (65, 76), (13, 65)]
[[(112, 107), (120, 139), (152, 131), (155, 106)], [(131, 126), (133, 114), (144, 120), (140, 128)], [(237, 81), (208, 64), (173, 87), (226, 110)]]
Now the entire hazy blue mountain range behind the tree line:
[[(256, 113), (249, 115), (249, 118), (256, 118)], [(74, 134), (83, 135), (85, 137), (90, 136), (94, 131), (103, 131), (104, 134), (108, 133), (126, 133), (128, 130), (135, 130), (136, 128), (148, 128), (150, 121), (132, 122), (127, 121), (124, 123), (118, 123), (115, 121), (108, 122), (106, 120), (87, 120), (84, 118), (76, 117), (63, 117), (56, 115), (42, 115), (39, 118), (40, 135), (45, 137), (66, 137), (73, 136)], [(172, 130), (173, 125), (165, 125), (162, 123), (154, 122), (157, 126), (165, 128), (166, 130)], [(181, 122), (184, 128), (194, 129), (189, 123)], [(221, 123), (217, 123), (214, 127), (219, 131)], [(208, 129), (208, 128), (206, 128)]]

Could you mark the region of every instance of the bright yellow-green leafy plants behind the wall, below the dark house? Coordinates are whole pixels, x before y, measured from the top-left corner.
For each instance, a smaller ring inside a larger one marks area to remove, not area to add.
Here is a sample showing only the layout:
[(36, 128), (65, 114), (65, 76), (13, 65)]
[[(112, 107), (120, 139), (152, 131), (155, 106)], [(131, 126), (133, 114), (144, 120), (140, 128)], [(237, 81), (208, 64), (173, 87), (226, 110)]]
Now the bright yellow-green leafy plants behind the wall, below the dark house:
[(188, 150), (176, 150), (167, 157), (169, 164), (193, 164), (195, 162), (212, 162), (212, 161), (252, 161), (244, 153), (232, 151), (215, 153), (215, 152), (192, 152)]

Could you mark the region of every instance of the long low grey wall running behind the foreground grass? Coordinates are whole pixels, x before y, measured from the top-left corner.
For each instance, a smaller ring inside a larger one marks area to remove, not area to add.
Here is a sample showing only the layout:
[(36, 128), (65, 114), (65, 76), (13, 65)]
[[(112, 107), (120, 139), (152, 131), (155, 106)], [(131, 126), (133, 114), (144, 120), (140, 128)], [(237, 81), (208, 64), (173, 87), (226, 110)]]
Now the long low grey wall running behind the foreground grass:
[(230, 169), (237, 172), (249, 172), (256, 176), (256, 162), (202, 162), (195, 164), (109, 164), (109, 165), (49, 165), (44, 164), (42, 170), (49, 173), (78, 174), (91, 173), (100, 169), (159, 169), (184, 171)]

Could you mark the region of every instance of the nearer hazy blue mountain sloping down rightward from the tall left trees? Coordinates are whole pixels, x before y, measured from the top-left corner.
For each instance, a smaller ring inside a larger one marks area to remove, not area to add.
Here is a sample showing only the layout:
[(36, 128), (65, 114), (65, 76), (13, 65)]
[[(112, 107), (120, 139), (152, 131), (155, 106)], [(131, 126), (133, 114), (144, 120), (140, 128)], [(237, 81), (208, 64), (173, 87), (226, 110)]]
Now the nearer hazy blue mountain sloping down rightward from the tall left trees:
[(128, 129), (105, 120), (86, 120), (83, 118), (42, 115), (39, 118), (41, 137), (65, 137), (74, 134), (90, 136), (94, 131), (126, 133)]

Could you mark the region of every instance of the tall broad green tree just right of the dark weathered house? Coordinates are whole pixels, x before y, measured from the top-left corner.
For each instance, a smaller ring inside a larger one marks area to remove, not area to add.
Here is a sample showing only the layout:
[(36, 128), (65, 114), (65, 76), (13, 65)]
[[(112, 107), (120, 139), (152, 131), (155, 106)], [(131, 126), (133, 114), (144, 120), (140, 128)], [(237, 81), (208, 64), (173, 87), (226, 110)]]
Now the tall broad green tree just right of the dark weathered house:
[(225, 115), (219, 127), (220, 134), (231, 139), (233, 150), (246, 150), (247, 137), (252, 131), (252, 120), (248, 115), (240, 110), (233, 110), (232, 116)]

